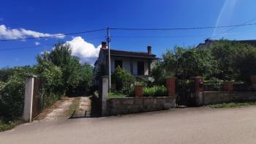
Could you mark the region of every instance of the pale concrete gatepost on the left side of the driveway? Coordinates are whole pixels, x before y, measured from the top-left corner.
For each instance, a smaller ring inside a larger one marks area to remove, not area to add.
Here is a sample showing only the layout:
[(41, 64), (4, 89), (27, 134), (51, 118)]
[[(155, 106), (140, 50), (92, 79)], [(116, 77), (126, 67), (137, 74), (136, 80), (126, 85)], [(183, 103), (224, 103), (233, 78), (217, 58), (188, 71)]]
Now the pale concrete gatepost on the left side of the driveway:
[(26, 77), (23, 120), (32, 121), (34, 77)]

